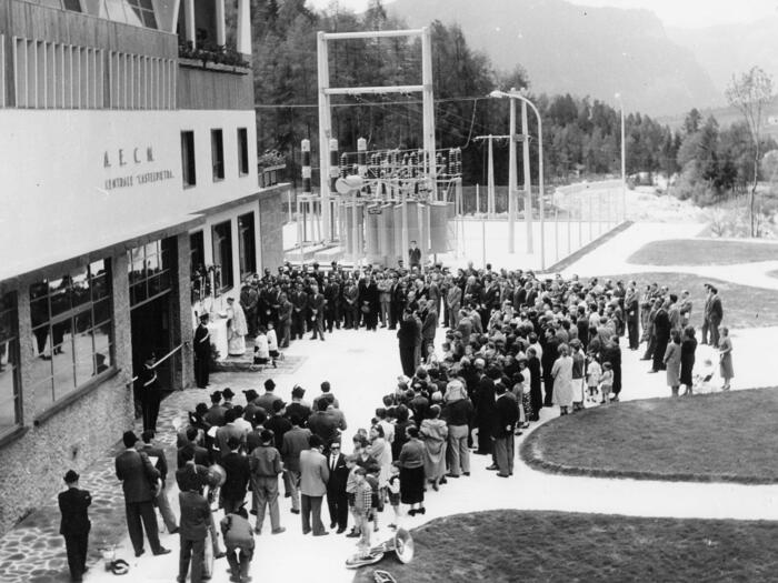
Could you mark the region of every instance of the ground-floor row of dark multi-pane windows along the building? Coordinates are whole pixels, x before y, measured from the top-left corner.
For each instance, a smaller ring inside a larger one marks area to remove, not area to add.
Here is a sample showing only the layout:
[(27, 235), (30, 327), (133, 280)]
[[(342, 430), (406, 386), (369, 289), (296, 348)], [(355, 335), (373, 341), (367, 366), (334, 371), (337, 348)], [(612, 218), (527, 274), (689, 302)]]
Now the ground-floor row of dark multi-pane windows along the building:
[[(255, 213), (238, 217), (241, 280), (257, 271)], [(193, 295), (221, 293), (235, 284), (232, 222), (211, 227), (213, 275), (206, 268), (203, 232), (190, 235)], [(128, 251), (130, 309), (172, 289), (174, 240), (152, 241)], [(213, 289), (208, 289), (209, 287)], [(29, 288), (34, 359), (30, 390), (37, 413), (77, 391), (113, 366), (113, 312), (109, 260), (78, 267)], [(19, 374), (19, 315), (16, 292), (0, 288), (0, 435), (22, 423)]]

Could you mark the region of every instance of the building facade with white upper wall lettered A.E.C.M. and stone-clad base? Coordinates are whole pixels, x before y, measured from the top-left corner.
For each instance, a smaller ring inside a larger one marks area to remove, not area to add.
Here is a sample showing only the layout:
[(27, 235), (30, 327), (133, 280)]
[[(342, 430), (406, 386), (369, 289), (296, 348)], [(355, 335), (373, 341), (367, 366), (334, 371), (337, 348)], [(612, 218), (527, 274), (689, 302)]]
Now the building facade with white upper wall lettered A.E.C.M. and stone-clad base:
[(0, 3), (0, 533), (132, 425), (148, 355), (191, 385), (199, 300), (280, 262), (249, 3)]

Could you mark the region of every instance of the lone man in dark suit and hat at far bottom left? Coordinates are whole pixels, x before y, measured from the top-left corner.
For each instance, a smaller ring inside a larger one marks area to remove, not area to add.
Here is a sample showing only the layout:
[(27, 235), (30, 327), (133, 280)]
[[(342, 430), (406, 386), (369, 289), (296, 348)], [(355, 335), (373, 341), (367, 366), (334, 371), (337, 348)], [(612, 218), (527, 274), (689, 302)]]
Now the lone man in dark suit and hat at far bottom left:
[(68, 566), (72, 581), (83, 581), (91, 527), (87, 509), (92, 503), (92, 496), (86, 490), (79, 490), (78, 481), (79, 475), (68, 470), (64, 474), (68, 490), (59, 494), (59, 510), (62, 513), (59, 533), (64, 536), (64, 549), (68, 553)]

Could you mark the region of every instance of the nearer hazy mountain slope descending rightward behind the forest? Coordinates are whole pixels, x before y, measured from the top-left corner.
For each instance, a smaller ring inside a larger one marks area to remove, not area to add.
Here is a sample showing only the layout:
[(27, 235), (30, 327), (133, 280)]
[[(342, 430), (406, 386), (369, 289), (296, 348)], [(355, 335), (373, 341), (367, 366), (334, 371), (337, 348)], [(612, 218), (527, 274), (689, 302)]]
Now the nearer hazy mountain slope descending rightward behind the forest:
[(535, 92), (591, 96), (652, 115), (724, 101), (687, 49), (647, 10), (588, 8), (563, 0), (396, 0), (390, 12), (420, 27), (458, 22), (498, 69), (521, 64)]

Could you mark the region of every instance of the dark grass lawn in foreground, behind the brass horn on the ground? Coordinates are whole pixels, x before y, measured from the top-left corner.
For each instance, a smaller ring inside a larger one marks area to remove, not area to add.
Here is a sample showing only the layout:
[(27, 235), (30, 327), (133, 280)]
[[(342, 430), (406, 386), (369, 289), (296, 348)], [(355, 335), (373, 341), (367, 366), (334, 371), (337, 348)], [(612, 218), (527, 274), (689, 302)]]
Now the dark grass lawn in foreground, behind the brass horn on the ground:
[(644, 519), (500, 510), (412, 531), (416, 557), (363, 567), (398, 583), (488, 581), (775, 581), (775, 522)]

